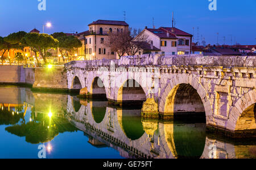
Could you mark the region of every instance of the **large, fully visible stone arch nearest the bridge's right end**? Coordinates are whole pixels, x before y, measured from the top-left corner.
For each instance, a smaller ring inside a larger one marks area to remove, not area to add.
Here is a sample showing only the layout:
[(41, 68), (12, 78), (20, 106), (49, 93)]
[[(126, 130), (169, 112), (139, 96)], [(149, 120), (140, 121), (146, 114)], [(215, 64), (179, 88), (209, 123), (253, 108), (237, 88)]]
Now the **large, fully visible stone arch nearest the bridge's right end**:
[[(178, 101), (179, 99), (180, 101)], [(192, 103), (187, 103), (188, 106), (195, 104), (197, 107), (187, 107), (187, 111), (205, 112), (207, 125), (213, 122), (212, 104), (209, 101), (207, 90), (197, 77), (189, 74), (179, 74), (167, 82), (166, 88), (160, 93), (159, 112), (163, 114), (187, 112), (182, 110), (181, 107), (175, 106), (175, 104), (182, 106), (184, 102), (191, 102), (191, 99), (193, 101)], [(200, 103), (202, 104), (201, 106)], [(193, 110), (193, 108), (195, 109)]]

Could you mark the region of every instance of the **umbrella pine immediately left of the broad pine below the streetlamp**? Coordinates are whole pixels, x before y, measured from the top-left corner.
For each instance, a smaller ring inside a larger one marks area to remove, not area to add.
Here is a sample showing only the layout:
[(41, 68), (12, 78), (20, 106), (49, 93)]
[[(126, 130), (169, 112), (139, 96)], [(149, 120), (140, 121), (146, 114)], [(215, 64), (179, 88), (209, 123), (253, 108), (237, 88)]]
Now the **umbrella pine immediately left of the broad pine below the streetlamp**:
[[(11, 45), (10, 48), (15, 48), (15, 49), (20, 49), (23, 52), (23, 56), (26, 60), (27, 64), (27, 57), (24, 55), (24, 48), (26, 47), (27, 44), (22, 43), (22, 38), (27, 34), (27, 32), (24, 31), (19, 31), (19, 32), (14, 32), (4, 38), (5, 42), (9, 43)], [(9, 56), (8, 56), (9, 57)]]

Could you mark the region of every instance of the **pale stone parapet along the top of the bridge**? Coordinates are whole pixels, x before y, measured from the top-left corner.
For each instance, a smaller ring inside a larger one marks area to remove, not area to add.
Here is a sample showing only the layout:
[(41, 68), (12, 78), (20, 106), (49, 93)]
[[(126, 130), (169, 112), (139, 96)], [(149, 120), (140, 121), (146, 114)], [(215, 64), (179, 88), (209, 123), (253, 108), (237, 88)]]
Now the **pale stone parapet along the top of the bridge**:
[(65, 67), (96, 67), (115, 65), (203, 65), (221, 67), (256, 67), (256, 56), (203, 56), (203, 55), (137, 55), (122, 56), (119, 60), (71, 61)]

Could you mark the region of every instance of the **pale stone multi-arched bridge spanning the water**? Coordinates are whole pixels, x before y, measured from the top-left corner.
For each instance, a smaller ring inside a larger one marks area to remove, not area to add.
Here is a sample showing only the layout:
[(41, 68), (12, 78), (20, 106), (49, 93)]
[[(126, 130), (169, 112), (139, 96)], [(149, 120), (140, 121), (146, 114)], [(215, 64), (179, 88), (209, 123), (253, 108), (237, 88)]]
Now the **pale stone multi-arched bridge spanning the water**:
[(205, 113), (209, 130), (256, 136), (256, 56), (126, 56), (65, 64), (68, 88), (125, 106), (143, 117)]

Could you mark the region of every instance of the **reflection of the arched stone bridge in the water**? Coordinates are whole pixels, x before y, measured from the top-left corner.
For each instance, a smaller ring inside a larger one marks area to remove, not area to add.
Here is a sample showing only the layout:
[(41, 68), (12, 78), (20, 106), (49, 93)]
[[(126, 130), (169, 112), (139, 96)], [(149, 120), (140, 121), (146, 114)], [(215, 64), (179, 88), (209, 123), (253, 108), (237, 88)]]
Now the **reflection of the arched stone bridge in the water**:
[[(84, 131), (93, 146), (112, 147), (127, 158), (234, 159), (255, 148), (250, 144), (236, 146), (210, 137), (205, 133), (205, 123), (182, 125), (141, 119), (140, 114), (141, 110), (110, 107), (107, 101), (82, 101), (68, 96), (65, 117)], [(138, 121), (129, 118), (138, 116)], [(134, 126), (127, 126), (129, 123)]]

